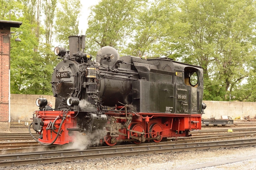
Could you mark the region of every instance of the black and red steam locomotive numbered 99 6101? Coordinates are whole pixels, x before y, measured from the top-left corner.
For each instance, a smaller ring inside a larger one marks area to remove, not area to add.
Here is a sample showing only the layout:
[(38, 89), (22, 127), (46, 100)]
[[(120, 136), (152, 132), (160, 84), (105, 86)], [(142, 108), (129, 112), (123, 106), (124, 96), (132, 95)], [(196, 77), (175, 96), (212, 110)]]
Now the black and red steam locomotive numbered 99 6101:
[(70, 36), (69, 51), (56, 47), (62, 61), (52, 74), (55, 109), (38, 98), (33, 129), (42, 145), (74, 142), (75, 135), (105, 132), (102, 143), (160, 142), (188, 137), (201, 129), (203, 70), (169, 58), (122, 56), (102, 47), (96, 61), (84, 52), (85, 36)]

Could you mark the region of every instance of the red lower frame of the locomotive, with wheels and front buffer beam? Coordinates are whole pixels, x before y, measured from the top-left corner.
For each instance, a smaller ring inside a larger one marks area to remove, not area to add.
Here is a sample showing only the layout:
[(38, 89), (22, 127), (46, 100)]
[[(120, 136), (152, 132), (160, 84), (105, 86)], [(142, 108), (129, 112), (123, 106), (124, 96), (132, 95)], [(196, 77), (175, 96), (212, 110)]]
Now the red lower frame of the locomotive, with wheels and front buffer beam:
[[(76, 114), (75, 111), (36, 111), (36, 117), (44, 122), (40, 133), (43, 136), (38, 141), (50, 144), (56, 139), (54, 144), (58, 145), (74, 142), (72, 133), (69, 133), (68, 129), (76, 128)], [(158, 143), (163, 138), (188, 137), (189, 131), (201, 129), (200, 114), (127, 113), (126, 111), (119, 113), (110, 111), (106, 114), (109, 119), (106, 136), (102, 142), (108, 146), (124, 141), (139, 144), (151, 140)], [(86, 134), (81, 133), (81, 135)]]

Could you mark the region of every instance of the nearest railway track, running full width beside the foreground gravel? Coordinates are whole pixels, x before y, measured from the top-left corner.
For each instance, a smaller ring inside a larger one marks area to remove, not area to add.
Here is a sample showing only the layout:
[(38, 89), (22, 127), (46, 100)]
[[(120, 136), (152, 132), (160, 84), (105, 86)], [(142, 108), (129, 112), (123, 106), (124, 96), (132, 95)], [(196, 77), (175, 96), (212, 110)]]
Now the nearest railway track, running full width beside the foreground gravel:
[(174, 144), (172, 142), (164, 145), (148, 145), (148, 146), (119, 146), (105, 147), (87, 150), (56, 150), (41, 151), (16, 154), (0, 155), (0, 167), (20, 166), (26, 164), (46, 164), (56, 162), (69, 162), (72, 160), (108, 158), (114, 156), (133, 156), (140, 154), (159, 154), (166, 152), (184, 152), (191, 150), (208, 150), (220, 148), (236, 148), (256, 146), (256, 138), (239, 139), (229, 141), (211, 141), (211, 142), (190, 142)]

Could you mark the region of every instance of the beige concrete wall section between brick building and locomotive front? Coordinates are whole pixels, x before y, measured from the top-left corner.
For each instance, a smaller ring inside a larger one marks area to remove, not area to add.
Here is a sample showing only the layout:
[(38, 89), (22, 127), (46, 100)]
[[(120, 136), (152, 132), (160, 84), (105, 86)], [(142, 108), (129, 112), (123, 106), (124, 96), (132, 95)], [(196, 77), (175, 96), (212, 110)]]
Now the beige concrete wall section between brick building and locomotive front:
[[(36, 99), (39, 97), (39, 95), (30, 94), (11, 94), (11, 122), (18, 122), (18, 120), (26, 122), (32, 121), (30, 118), (33, 117), (33, 112), (39, 109), (39, 107), (36, 106)], [(53, 96), (44, 95), (43, 97), (51, 101), (52, 105), (55, 106), (55, 98)]]

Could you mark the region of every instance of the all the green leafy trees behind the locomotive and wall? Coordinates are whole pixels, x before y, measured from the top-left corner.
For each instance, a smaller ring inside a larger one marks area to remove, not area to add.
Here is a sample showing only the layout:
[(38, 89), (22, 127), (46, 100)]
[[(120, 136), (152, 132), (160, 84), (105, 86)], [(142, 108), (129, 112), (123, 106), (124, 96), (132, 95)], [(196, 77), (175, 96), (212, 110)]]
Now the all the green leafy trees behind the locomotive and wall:
[[(111, 46), (120, 55), (168, 56), (202, 66), (204, 100), (256, 101), (254, 0), (100, 0), (92, 6), (86, 51)], [(51, 94), (55, 41), (79, 35), (80, 0), (0, 0), (12, 28), (11, 92)], [(15, 42), (16, 36), (22, 42)]]

